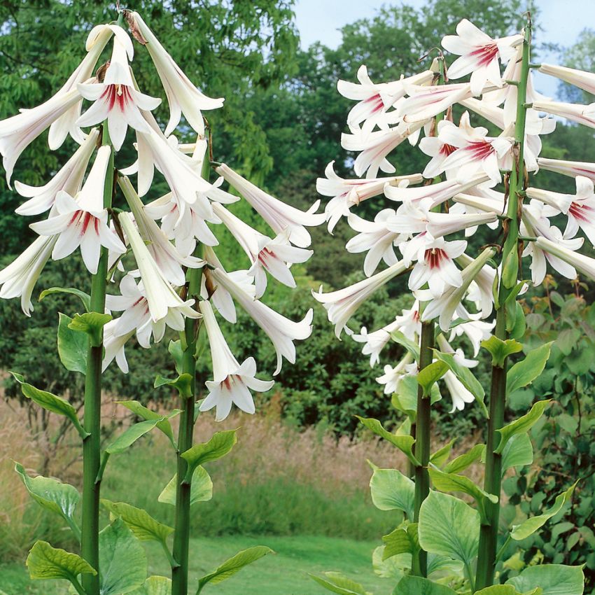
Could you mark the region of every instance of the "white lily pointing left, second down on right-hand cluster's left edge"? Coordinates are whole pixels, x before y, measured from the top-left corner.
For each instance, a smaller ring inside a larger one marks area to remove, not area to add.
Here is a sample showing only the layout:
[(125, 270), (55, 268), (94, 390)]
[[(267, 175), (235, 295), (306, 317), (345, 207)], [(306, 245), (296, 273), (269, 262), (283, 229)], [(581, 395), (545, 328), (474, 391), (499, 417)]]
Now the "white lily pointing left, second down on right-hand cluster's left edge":
[(426, 120), (419, 120), (413, 124), (400, 123), (398, 126), (387, 130), (367, 132), (356, 129), (352, 134), (341, 135), (341, 146), (346, 151), (360, 151), (353, 163), (356, 175), (375, 178), (378, 169), (386, 174), (395, 172), (395, 167), (386, 159), (386, 155), (399, 146), (402, 141), (419, 134)]

